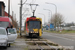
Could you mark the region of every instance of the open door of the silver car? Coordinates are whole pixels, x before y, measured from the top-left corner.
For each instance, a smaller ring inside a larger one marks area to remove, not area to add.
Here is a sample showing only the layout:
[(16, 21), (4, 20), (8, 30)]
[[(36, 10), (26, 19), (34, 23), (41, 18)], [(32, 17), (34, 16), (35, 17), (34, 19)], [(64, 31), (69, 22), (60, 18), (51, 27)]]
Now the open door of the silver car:
[(17, 38), (17, 32), (16, 32), (16, 28), (8, 28), (8, 46), (10, 47), (11, 43), (14, 43), (14, 41)]

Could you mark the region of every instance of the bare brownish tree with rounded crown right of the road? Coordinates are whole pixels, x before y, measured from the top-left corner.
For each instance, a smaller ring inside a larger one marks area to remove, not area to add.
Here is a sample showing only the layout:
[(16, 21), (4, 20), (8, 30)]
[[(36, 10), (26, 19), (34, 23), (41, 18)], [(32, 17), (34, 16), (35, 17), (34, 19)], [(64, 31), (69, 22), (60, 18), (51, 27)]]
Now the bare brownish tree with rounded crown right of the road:
[(64, 23), (64, 17), (60, 14), (54, 14), (49, 20), (49, 23), (53, 23), (55, 27), (58, 27), (60, 24)]

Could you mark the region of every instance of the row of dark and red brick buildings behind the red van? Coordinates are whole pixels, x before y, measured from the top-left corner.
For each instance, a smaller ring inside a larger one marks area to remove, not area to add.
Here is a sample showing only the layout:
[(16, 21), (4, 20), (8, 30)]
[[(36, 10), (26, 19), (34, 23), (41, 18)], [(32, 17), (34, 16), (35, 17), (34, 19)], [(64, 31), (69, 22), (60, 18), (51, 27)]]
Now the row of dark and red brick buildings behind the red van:
[[(0, 17), (8, 17), (8, 13), (5, 11), (5, 3), (3, 1), (0, 1)], [(17, 28), (17, 22), (13, 19), (11, 15), (10, 18), (12, 20), (13, 26)]]

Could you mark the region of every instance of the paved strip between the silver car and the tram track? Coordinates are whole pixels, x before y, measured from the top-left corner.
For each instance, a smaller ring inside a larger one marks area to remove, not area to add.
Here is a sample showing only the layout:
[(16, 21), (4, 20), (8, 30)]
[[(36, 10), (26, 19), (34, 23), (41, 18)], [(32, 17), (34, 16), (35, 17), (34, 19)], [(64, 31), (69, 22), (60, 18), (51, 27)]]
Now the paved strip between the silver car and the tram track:
[(25, 43), (24, 38), (17, 38), (11, 47), (8, 47), (7, 50), (28, 50), (27, 44)]

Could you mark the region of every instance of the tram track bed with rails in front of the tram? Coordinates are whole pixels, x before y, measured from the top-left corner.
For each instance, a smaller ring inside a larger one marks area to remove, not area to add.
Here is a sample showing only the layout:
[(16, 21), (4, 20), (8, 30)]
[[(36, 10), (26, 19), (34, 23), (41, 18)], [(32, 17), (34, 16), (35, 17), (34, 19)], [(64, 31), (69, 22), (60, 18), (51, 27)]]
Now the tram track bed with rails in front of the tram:
[(72, 50), (43, 38), (26, 38), (29, 50)]

